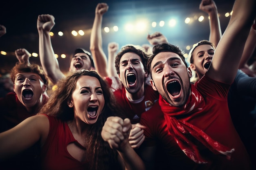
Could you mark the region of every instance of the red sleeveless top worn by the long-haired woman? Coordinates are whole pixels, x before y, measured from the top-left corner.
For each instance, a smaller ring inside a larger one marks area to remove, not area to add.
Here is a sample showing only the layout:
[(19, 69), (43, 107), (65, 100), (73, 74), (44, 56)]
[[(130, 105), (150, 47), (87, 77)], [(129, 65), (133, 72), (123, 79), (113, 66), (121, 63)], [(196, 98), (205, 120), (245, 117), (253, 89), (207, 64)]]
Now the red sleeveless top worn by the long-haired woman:
[(67, 145), (76, 142), (66, 122), (45, 115), (49, 119), (49, 135), (41, 149), (42, 170), (85, 170), (87, 162), (79, 162), (67, 151)]

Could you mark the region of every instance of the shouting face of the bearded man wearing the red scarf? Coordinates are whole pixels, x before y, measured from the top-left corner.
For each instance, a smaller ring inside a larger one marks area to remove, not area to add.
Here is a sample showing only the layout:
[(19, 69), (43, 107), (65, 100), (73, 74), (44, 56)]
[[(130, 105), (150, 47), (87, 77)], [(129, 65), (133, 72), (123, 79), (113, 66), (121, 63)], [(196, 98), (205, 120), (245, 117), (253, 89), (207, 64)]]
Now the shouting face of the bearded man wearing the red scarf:
[(151, 85), (172, 106), (183, 106), (190, 95), (190, 68), (186, 68), (179, 55), (158, 53), (152, 60)]

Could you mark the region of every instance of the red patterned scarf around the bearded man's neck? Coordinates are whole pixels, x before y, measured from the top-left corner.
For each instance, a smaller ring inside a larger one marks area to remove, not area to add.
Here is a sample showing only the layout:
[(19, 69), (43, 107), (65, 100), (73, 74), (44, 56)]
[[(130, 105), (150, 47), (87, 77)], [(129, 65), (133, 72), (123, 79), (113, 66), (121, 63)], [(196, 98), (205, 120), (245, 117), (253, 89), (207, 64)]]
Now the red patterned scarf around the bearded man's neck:
[(214, 141), (200, 128), (184, 120), (176, 119), (175, 116), (177, 115), (187, 114), (188, 118), (192, 117), (193, 113), (204, 108), (204, 99), (195, 89), (195, 86), (191, 86), (191, 95), (189, 96), (188, 102), (183, 107), (171, 106), (161, 95), (159, 95), (159, 105), (164, 113), (164, 118), (170, 133), (187, 157), (196, 163), (207, 163), (207, 159), (200, 154), (200, 149), (198, 149), (206, 147), (214, 154), (225, 155), (227, 159), (231, 158), (231, 153), (234, 152), (234, 149), (230, 149)]

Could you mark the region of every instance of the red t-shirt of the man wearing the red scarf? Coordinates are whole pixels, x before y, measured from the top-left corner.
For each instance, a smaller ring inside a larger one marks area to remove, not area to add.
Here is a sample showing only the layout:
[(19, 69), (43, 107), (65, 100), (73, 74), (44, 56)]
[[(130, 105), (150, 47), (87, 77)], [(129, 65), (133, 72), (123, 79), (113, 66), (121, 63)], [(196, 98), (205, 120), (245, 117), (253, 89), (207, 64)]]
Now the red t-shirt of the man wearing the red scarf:
[[(144, 145), (153, 146), (157, 144), (165, 155), (164, 165), (157, 164), (156, 167), (168, 167), (171, 169), (187, 170), (241, 170), (250, 169), (250, 161), (245, 146), (243, 145), (234, 125), (231, 121), (229, 108), (227, 106), (227, 94), (230, 85), (216, 82), (207, 76), (202, 77), (195, 83), (195, 89), (202, 95), (205, 106), (193, 114), (179, 115), (176, 119), (186, 121), (193, 126), (200, 128), (213, 140), (235, 151), (231, 154), (231, 160), (223, 155), (210, 154), (211, 162), (198, 164), (189, 159), (177, 145), (173, 134), (168, 130), (164, 113), (159, 106), (155, 104), (150, 110), (141, 115), (140, 123), (147, 126), (144, 130), (146, 137)], [(168, 106), (173, 109), (173, 106)], [(159, 160), (159, 159), (158, 159)], [(159, 163), (159, 162), (158, 162)]]

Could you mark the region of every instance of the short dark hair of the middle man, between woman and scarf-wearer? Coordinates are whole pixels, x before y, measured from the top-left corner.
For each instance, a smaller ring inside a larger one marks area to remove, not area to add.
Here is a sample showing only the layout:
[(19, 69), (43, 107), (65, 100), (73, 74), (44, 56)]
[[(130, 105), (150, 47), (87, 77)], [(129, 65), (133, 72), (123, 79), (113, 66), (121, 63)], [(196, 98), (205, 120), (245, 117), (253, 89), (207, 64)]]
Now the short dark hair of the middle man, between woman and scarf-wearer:
[(120, 71), (119, 71), (120, 59), (125, 53), (128, 53), (128, 52), (132, 52), (132, 53), (139, 55), (139, 57), (141, 58), (142, 64), (144, 66), (144, 69), (148, 73), (146, 66), (147, 66), (149, 54), (145, 51), (145, 49), (143, 47), (141, 47), (139, 45), (129, 44), (129, 45), (122, 46), (120, 49), (120, 52), (117, 54), (117, 56), (115, 58), (115, 67), (117, 70), (117, 74), (120, 73)]

